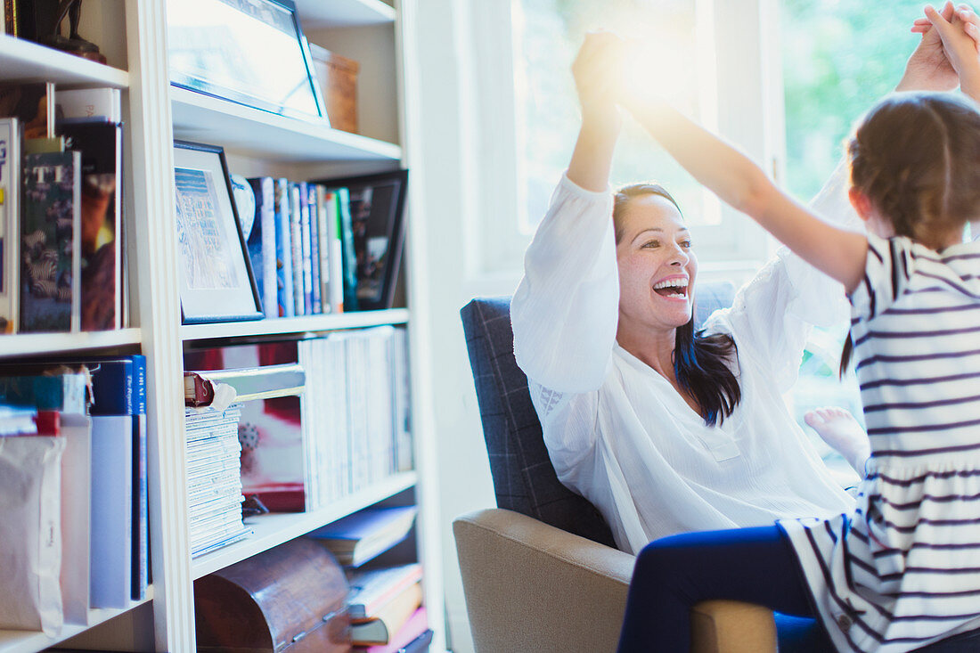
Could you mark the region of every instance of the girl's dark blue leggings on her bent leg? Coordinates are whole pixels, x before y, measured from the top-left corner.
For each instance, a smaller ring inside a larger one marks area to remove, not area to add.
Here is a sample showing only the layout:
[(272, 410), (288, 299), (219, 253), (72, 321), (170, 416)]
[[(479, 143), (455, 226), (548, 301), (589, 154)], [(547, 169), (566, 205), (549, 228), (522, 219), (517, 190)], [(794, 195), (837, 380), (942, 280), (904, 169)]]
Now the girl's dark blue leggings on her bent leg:
[(779, 527), (671, 535), (648, 544), (636, 559), (619, 653), (686, 653), (691, 607), (711, 599), (814, 616), (796, 554)]

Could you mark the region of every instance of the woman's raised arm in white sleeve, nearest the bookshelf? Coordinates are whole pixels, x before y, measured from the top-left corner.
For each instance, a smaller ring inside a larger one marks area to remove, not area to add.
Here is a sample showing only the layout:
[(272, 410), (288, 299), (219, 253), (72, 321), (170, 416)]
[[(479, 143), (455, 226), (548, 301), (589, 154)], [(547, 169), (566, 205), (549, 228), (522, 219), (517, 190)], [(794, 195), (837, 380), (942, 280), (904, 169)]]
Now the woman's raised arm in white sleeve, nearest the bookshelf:
[(622, 118), (610, 32), (589, 33), (572, 65), (582, 126), (568, 171), (524, 256), (511, 303), (517, 364), (559, 392), (597, 389), (613, 352), (619, 286), (609, 188)]

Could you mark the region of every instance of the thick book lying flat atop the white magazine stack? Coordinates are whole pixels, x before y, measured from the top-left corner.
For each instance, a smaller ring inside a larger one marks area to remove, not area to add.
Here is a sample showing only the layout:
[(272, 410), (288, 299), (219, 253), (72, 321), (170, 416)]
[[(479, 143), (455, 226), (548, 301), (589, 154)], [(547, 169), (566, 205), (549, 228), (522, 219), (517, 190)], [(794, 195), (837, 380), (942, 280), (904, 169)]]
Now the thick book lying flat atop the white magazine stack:
[(306, 373), (298, 364), (185, 372), (184, 401), (188, 406), (207, 406), (215, 398), (215, 383), (233, 387), (235, 401), (268, 399), (302, 394)]

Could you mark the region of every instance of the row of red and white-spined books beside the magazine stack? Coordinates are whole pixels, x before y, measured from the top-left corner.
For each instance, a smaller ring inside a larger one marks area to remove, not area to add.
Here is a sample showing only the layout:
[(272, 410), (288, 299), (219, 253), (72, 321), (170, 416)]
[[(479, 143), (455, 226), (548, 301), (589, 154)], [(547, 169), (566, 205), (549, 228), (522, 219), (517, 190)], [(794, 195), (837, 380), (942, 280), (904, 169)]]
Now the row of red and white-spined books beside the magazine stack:
[[(185, 397), (208, 380), (258, 396), (241, 404), (242, 492), (271, 511), (317, 510), (413, 468), (405, 336), (378, 326), (190, 349)], [(295, 389), (296, 369), (302, 394), (282, 392)]]

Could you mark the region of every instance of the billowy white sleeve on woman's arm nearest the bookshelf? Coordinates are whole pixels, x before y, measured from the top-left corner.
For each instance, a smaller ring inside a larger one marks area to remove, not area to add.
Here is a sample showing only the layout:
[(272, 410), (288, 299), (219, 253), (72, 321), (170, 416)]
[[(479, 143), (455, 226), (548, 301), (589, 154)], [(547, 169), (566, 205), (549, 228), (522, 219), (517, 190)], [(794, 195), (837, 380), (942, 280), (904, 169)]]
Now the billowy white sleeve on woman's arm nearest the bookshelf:
[(552, 394), (597, 390), (606, 377), (619, 303), (612, 214), (612, 192), (564, 176), (524, 256), (511, 301), (515, 358)]

